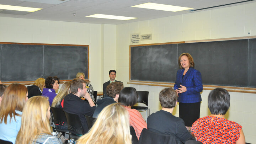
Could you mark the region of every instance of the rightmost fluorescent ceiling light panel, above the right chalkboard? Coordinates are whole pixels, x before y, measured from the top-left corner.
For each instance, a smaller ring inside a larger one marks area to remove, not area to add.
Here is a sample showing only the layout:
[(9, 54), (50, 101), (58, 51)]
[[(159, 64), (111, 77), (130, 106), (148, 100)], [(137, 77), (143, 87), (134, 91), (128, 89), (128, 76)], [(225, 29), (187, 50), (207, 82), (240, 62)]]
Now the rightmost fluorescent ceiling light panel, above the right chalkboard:
[(172, 11), (172, 12), (193, 9), (190, 7), (156, 4), (156, 3), (152, 3), (152, 2), (147, 2), (144, 4), (140, 4), (140, 5), (135, 5), (132, 7), (139, 7), (139, 8), (144, 8), (144, 9), (153, 9), (153, 10), (162, 10), (162, 11)]

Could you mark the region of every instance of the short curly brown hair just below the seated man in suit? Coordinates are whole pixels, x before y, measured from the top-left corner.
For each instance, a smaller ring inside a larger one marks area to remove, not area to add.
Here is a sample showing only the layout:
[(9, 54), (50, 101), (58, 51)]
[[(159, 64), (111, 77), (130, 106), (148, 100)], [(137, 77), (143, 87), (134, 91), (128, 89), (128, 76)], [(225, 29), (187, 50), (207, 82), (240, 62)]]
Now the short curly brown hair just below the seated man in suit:
[(122, 89), (123, 89), (122, 82), (111, 82), (111, 84), (107, 86), (107, 90), (106, 90), (107, 95), (115, 98), (116, 95), (118, 95)]

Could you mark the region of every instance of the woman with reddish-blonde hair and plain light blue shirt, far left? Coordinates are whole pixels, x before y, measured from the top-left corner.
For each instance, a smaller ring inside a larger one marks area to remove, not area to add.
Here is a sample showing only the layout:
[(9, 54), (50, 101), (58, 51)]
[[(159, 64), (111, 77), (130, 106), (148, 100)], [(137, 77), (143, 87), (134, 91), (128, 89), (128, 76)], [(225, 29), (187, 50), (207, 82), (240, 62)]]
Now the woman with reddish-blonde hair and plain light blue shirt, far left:
[(22, 84), (10, 84), (6, 87), (0, 106), (0, 139), (15, 144), (27, 95), (27, 87)]

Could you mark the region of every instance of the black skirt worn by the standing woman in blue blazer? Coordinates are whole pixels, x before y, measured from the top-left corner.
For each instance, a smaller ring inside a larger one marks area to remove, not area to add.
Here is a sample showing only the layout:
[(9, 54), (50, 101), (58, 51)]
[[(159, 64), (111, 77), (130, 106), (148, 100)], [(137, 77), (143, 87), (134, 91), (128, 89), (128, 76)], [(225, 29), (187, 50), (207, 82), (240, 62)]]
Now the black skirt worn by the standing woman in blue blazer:
[(192, 127), (192, 124), (200, 117), (201, 102), (179, 103), (180, 118), (185, 122), (185, 126)]

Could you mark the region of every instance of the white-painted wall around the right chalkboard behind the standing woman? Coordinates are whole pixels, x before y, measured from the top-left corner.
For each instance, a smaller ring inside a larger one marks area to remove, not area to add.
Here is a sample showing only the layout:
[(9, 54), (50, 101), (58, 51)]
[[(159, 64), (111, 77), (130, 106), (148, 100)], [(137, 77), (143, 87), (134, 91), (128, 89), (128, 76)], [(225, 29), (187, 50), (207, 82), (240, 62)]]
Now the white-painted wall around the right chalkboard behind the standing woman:
[[(152, 33), (152, 40), (140, 44), (192, 41), (256, 35), (256, 2), (222, 9), (193, 12), (185, 15), (158, 18), (117, 25), (117, 70), (124, 86), (149, 91), (149, 108), (161, 109), (158, 96), (164, 87), (129, 85), (130, 34)], [(250, 34), (248, 34), (250, 32)], [(173, 75), (176, 75), (173, 74)], [(203, 90), (200, 117), (210, 114), (207, 106), (209, 90)], [(231, 106), (226, 118), (242, 125), (247, 143), (256, 141), (256, 94), (230, 92)], [(178, 105), (174, 110), (178, 116)], [(142, 113), (145, 116), (145, 113)]]

